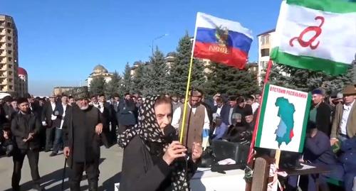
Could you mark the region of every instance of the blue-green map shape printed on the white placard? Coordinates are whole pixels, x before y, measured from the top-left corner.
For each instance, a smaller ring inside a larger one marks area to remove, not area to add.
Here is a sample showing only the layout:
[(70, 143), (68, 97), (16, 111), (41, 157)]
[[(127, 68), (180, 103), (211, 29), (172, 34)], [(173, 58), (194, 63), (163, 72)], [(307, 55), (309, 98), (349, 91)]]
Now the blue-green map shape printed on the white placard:
[(276, 99), (276, 107), (278, 107), (278, 116), (281, 118), (281, 121), (276, 129), (276, 141), (278, 142), (278, 147), (281, 147), (283, 142), (288, 145), (294, 136), (293, 114), (295, 112), (295, 108), (294, 105), (284, 97), (278, 97)]

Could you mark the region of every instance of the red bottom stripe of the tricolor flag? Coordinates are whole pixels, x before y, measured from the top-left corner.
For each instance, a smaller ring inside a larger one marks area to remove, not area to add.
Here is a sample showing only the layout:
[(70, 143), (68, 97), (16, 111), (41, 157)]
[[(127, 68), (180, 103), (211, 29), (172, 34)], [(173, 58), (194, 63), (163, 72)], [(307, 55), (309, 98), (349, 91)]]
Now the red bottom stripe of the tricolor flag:
[(247, 62), (247, 53), (244, 51), (216, 43), (195, 42), (194, 57), (209, 59), (239, 69), (244, 69)]

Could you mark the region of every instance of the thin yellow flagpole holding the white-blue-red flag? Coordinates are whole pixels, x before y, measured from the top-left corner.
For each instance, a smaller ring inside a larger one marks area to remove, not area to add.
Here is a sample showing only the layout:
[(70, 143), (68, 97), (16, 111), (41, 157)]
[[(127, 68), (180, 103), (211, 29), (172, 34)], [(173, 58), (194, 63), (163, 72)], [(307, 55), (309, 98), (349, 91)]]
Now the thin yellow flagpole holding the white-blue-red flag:
[[(195, 24), (195, 30), (194, 30), (192, 55), (190, 56), (189, 72), (188, 72), (188, 80), (187, 80), (187, 89), (186, 89), (186, 91), (185, 91), (185, 99), (184, 99), (183, 119), (182, 119), (182, 126), (181, 126), (181, 129), (180, 129), (180, 135), (179, 135), (179, 142), (180, 142), (181, 144), (183, 143), (184, 124), (185, 124), (186, 115), (187, 115), (187, 104), (188, 104), (190, 80), (191, 80), (191, 78), (192, 78), (192, 67), (193, 67), (194, 48), (195, 48), (195, 38), (196, 38), (196, 36), (197, 36), (197, 23)], [(188, 132), (187, 132), (187, 133), (188, 133)]]

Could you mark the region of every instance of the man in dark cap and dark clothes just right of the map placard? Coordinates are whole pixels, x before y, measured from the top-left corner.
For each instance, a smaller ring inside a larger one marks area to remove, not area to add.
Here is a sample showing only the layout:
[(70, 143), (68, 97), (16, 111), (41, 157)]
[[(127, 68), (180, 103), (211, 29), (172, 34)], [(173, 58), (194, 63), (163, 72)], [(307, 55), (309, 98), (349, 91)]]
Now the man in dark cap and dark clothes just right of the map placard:
[(310, 108), (309, 120), (315, 124), (316, 129), (330, 136), (331, 107), (324, 102), (324, 99), (324, 89), (318, 88), (312, 91), (313, 105)]

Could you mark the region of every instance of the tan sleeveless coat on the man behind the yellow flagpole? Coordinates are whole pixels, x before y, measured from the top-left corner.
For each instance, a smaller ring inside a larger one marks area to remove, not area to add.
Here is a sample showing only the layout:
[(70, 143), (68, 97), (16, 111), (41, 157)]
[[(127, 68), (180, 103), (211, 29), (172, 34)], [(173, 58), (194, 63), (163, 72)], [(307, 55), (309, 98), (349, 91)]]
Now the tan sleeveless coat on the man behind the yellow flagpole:
[[(180, 129), (182, 128), (184, 105), (181, 106), (181, 111), (182, 113), (179, 122), (179, 132)], [(200, 104), (197, 107), (195, 114), (192, 112), (191, 107), (187, 105), (187, 113), (186, 113), (184, 133), (183, 133), (183, 145), (187, 146), (189, 151), (192, 151), (193, 142), (196, 143), (202, 142), (204, 118), (205, 118), (205, 107), (203, 105)]]

